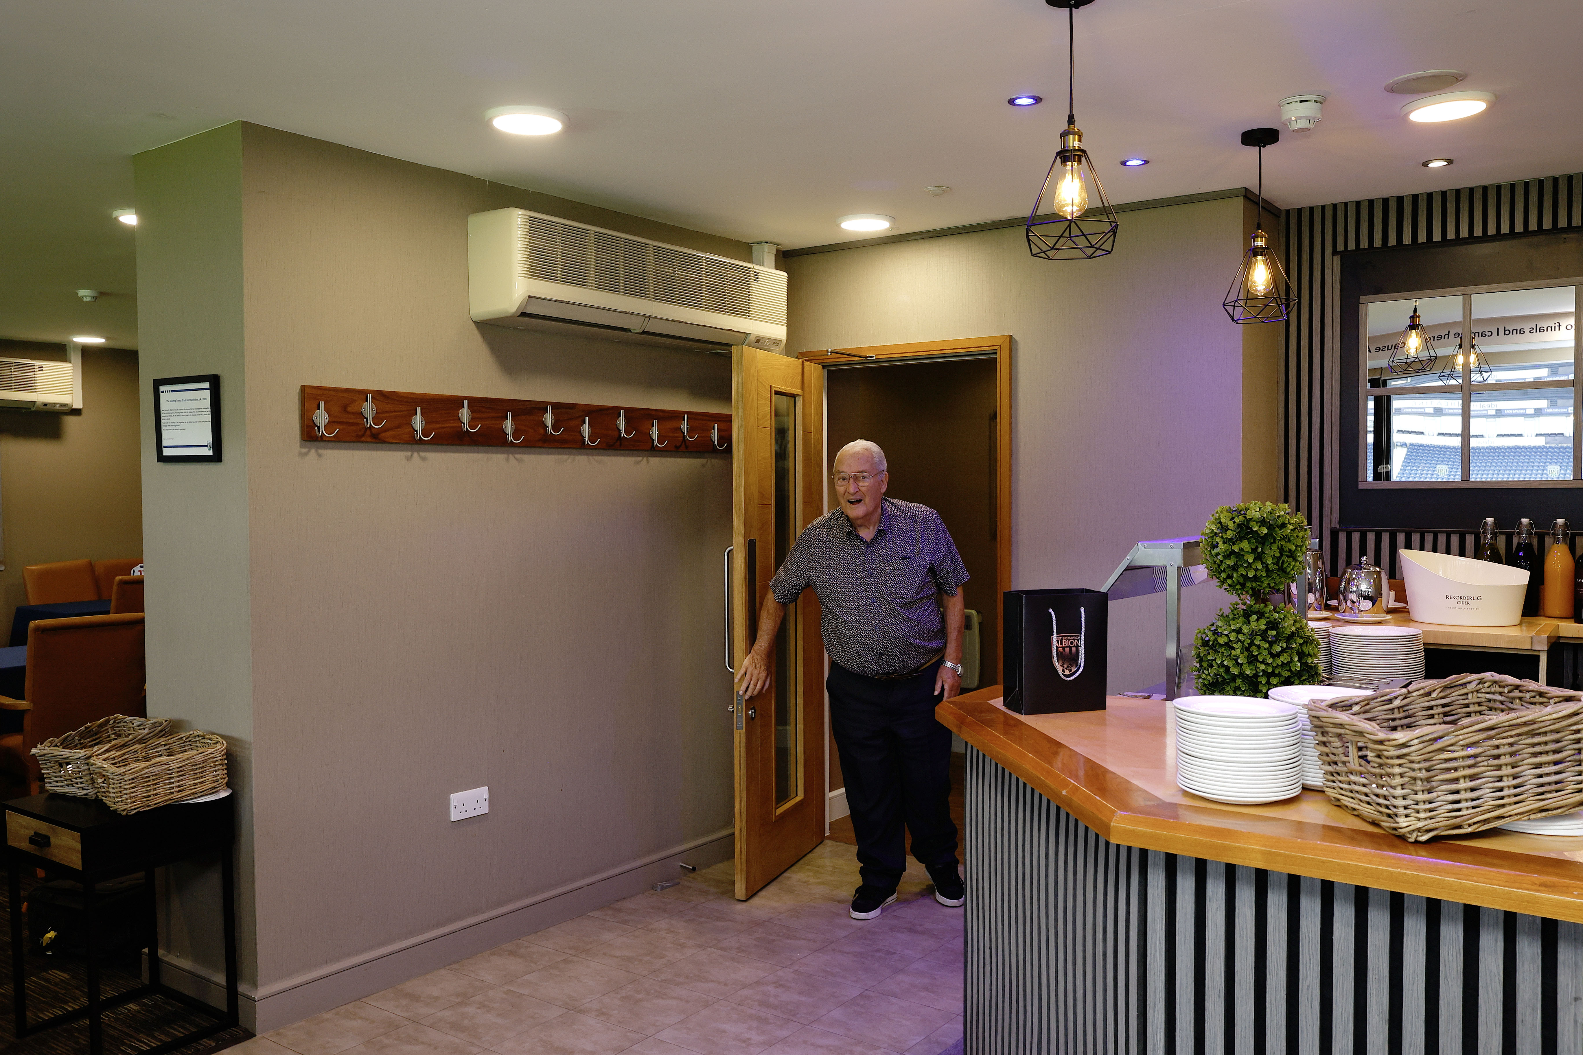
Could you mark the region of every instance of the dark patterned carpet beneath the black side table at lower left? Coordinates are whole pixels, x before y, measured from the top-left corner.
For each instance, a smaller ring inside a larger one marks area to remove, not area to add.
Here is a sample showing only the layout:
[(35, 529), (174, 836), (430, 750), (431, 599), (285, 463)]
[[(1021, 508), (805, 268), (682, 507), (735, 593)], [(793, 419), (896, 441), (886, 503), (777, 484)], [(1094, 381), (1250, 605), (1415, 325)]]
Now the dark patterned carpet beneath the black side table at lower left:
[[(24, 898), (36, 886), (32, 875), (22, 879)], [(87, 1022), (73, 1022), (16, 1039), (16, 1020), (11, 1003), (11, 906), (5, 886), (0, 884), (0, 1052), (5, 1055), (84, 1055), (89, 1050)], [(100, 987), (106, 996), (123, 993), (139, 984), (139, 963), (128, 959), (108, 965), (100, 971)], [(81, 1008), (87, 1003), (82, 962), (76, 959), (28, 957), (27, 962), (27, 1012), (28, 1020), (49, 1017), (57, 1011)], [(195, 1030), (209, 1022), (201, 1014), (165, 996), (149, 996), (123, 1008), (116, 1008), (103, 1017), (106, 1055), (141, 1052)], [(252, 1034), (236, 1028), (204, 1041), (176, 1049), (177, 1055), (209, 1055)]]

